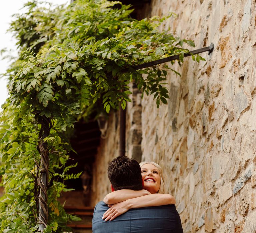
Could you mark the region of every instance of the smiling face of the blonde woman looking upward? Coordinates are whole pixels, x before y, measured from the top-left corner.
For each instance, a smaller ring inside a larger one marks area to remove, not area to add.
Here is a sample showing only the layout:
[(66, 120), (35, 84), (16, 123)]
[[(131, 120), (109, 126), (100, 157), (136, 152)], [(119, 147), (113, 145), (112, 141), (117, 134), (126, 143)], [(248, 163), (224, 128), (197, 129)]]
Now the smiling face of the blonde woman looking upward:
[(141, 176), (144, 189), (148, 190), (151, 194), (157, 193), (161, 183), (159, 170), (153, 164), (147, 163), (141, 166)]

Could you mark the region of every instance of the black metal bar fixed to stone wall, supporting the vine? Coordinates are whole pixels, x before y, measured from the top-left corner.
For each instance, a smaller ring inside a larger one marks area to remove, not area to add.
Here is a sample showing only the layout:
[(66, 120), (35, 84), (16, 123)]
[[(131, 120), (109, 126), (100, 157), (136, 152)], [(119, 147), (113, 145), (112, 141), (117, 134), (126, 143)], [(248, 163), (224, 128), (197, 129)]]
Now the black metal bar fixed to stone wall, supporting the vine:
[[(208, 51), (208, 54), (210, 54), (213, 51), (213, 49), (214, 49), (214, 45), (213, 45), (213, 43), (211, 43), (210, 46), (208, 46), (208, 47), (189, 51), (189, 53), (184, 53), (184, 57), (189, 57), (189, 56), (207, 52), (207, 51)], [(173, 55), (173, 56), (170, 56), (167, 58), (162, 58), (162, 59), (159, 59), (156, 61), (146, 62), (146, 63), (140, 64), (140, 65), (135, 65), (135, 66), (132, 66), (131, 68), (133, 68), (134, 70), (140, 70), (143, 68), (159, 65), (161, 63), (170, 62), (170, 61), (177, 60), (177, 59), (179, 59), (179, 55)], [(127, 71), (128, 71), (128, 68), (123, 70), (123, 72), (127, 72)]]

